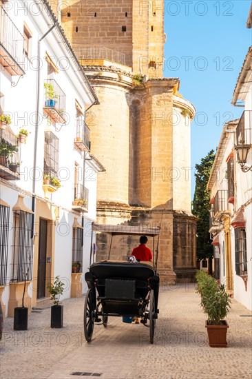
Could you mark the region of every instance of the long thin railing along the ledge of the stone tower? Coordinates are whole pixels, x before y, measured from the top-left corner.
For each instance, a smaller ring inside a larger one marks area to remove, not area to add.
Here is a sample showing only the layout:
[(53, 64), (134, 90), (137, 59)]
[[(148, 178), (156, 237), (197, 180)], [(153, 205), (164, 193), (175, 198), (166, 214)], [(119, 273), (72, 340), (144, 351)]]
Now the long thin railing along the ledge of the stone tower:
[(125, 65), (125, 54), (102, 46), (88, 46), (82, 48), (74, 48), (74, 52), (78, 59), (107, 59), (108, 61)]

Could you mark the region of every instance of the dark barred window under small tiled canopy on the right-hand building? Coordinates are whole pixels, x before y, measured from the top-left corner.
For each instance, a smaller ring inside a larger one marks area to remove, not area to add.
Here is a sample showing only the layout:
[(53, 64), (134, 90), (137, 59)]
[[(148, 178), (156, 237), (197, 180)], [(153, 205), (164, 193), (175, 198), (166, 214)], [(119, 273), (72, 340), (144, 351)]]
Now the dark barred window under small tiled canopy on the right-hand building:
[(236, 275), (247, 274), (246, 262), (246, 230), (235, 229), (235, 272)]

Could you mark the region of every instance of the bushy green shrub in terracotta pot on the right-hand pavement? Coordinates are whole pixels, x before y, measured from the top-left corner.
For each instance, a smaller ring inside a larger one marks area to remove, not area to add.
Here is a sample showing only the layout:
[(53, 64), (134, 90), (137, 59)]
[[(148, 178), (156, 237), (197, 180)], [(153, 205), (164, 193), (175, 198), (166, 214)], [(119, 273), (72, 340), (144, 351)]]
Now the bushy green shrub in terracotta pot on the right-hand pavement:
[(201, 294), (201, 307), (207, 314), (205, 327), (209, 337), (210, 347), (227, 347), (227, 328), (229, 325), (224, 318), (230, 308), (231, 299), (225, 292), (224, 285), (218, 286), (214, 278), (207, 278), (208, 274), (201, 274), (198, 278), (196, 291)]

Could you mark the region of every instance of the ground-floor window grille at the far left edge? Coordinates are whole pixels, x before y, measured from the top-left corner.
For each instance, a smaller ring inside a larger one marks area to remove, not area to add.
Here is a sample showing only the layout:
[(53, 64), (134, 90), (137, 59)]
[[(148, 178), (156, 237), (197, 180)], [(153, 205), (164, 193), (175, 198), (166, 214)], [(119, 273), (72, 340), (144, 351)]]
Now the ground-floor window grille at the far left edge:
[(0, 285), (7, 283), (10, 207), (0, 205)]

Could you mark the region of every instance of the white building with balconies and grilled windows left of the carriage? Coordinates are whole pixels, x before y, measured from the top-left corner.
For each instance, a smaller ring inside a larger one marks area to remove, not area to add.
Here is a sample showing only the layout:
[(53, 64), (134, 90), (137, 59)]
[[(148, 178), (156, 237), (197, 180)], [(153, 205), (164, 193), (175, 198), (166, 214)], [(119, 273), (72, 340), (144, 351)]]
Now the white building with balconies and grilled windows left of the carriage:
[(25, 279), (29, 309), (58, 275), (61, 299), (85, 291), (104, 168), (85, 123), (98, 99), (48, 2), (1, 1), (0, 37), (0, 293), (13, 316)]

